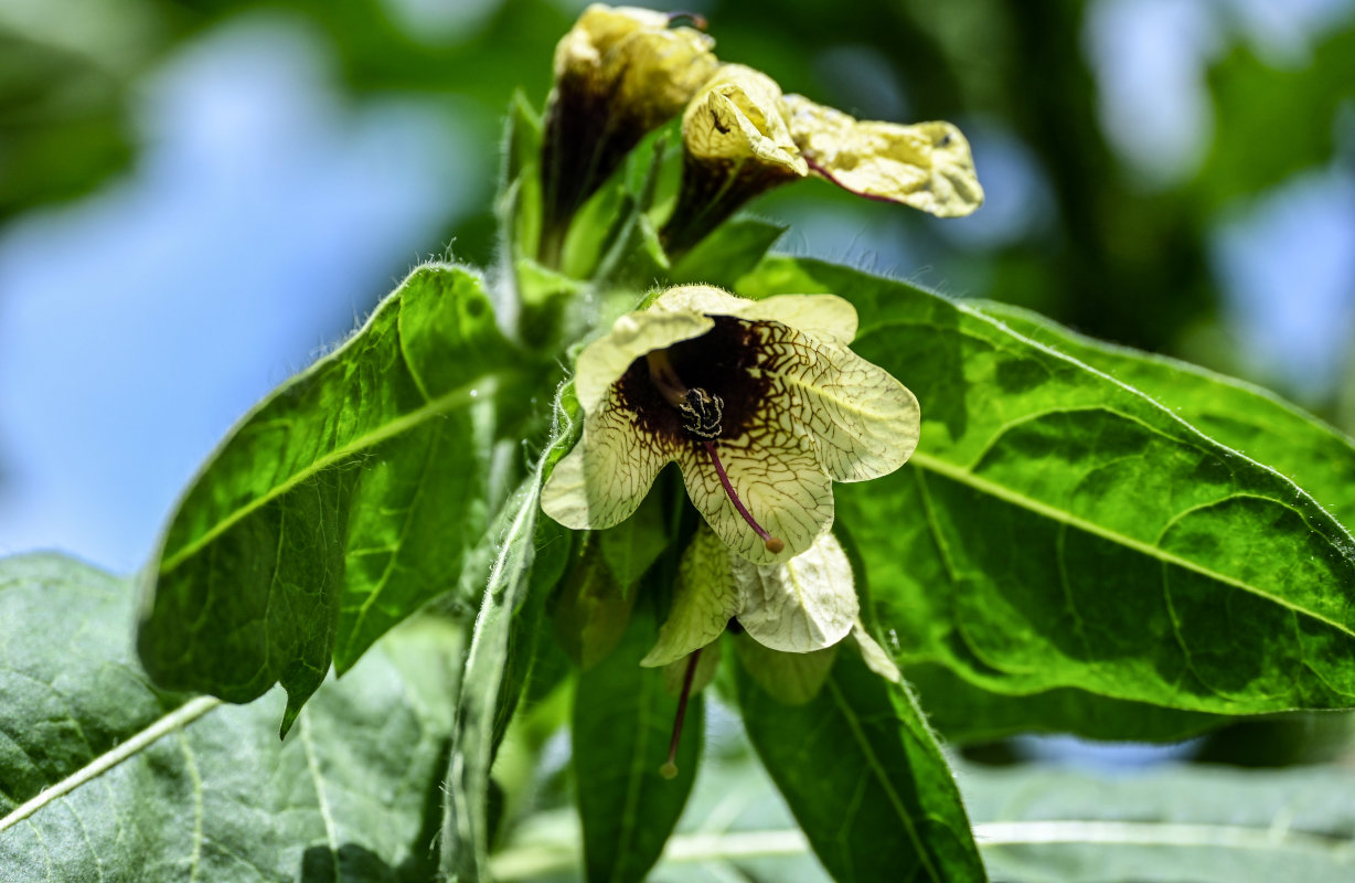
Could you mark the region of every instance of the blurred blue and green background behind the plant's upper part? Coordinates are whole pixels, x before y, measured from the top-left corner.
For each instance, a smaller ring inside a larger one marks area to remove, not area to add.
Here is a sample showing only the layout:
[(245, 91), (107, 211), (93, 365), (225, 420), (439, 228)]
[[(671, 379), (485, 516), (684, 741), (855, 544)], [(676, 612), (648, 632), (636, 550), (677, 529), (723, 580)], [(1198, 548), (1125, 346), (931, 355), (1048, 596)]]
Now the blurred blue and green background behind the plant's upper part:
[[(131, 571), (253, 401), (485, 262), (576, 0), (0, 0), (0, 553)], [(986, 205), (822, 182), (780, 248), (1039, 309), (1355, 426), (1355, 0), (683, 0), (717, 53), (950, 119)]]

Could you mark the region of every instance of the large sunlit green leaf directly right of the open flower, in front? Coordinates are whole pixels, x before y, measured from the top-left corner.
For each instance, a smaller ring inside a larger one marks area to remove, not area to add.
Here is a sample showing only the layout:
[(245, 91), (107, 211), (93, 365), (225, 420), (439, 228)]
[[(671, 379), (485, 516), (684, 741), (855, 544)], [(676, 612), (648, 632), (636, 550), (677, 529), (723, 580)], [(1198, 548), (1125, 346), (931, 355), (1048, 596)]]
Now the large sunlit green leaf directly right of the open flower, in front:
[(775, 258), (751, 294), (837, 292), (921, 445), (836, 490), (908, 663), (1211, 713), (1355, 703), (1355, 552), (1294, 483), (1148, 396), (915, 286)]

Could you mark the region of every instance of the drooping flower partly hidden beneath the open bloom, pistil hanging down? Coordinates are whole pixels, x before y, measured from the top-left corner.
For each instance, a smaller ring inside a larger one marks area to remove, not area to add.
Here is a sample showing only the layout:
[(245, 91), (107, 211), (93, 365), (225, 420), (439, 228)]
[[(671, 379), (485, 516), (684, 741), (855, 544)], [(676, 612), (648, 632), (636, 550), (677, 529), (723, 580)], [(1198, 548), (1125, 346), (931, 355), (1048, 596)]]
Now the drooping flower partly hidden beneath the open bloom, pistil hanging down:
[(714, 643), (733, 632), (740, 665), (763, 690), (787, 704), (810, 701), (828, 678), (837, 647), (851, 636), (866, 665), (898, 682), (898, 667), (860, 619), (851, 563), (825, 533), (801, 555), (776, 564), (753, 564), (713, 532), (698, 528), (683, 552), (668, 620), (642, 666), (664, 666), (665, 680), (682, 673), (679, 713), (668, 764), (675, 773), (687, 700), (713, 677)]

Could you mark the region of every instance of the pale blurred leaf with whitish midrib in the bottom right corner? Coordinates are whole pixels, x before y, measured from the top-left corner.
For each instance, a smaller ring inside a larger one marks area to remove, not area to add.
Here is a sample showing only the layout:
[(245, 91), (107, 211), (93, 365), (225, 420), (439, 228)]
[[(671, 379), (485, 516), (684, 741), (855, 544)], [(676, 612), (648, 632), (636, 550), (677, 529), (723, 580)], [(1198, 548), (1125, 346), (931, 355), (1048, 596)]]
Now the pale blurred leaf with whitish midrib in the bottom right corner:
[(1175, 766), (1134, 777), (961, 773), (993, 876), (1030, 883), (1344, 883), (1355, 776), (1339, 768)]

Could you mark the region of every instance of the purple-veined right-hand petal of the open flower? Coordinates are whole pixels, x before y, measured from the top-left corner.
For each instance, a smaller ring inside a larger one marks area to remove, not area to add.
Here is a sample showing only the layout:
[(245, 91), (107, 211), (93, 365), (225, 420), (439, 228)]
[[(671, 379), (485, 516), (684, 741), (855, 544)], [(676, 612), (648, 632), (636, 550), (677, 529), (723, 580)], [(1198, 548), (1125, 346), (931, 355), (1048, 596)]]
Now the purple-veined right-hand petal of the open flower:
[(917, 448), (921, 408), (889, 372), (831, 338), (782, 324), (759, 326), (759, 370), (771, 381), (768, 412), (813, 439), (836, 482), (889, 475)]

